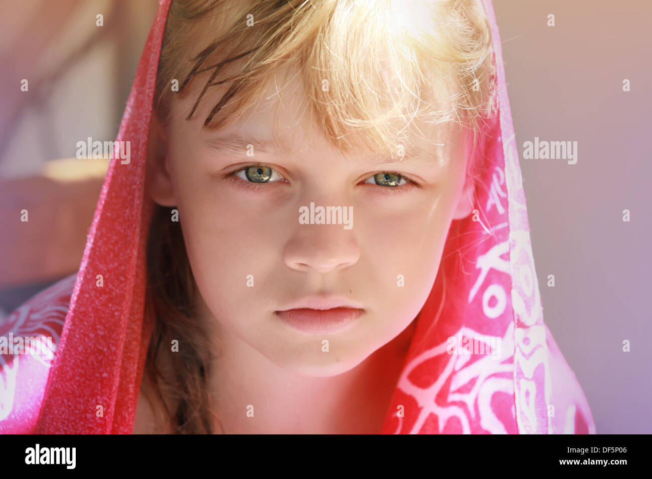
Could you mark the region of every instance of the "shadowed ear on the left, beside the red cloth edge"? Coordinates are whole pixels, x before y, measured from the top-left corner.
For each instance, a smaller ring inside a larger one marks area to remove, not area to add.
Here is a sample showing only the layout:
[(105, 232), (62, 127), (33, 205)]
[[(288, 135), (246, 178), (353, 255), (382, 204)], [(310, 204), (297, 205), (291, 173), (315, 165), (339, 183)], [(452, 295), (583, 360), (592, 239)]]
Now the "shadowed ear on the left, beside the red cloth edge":
[(161, 206), (175, 206), (177, 201), (168, 165), (168, 134), (152, 111), (147, 137), (147, 181), (145, 188), (149, 196)]

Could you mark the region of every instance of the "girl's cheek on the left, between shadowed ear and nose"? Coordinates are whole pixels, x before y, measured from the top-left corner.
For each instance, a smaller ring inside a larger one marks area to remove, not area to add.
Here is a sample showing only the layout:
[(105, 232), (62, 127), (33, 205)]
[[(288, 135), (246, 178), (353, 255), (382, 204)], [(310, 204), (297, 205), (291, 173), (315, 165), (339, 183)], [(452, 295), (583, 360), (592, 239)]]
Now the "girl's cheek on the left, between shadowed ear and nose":
[(278, 287), (288, 225), (279, 221), (269, 197), (243, 197), (205, 172), (184, 173), (177, 177), (175, 194), (200, 293), (213, 313), (223, 313), (223, 321), (252, 320), (261, 304), (265, 309), (274, 304), (271, 293)]

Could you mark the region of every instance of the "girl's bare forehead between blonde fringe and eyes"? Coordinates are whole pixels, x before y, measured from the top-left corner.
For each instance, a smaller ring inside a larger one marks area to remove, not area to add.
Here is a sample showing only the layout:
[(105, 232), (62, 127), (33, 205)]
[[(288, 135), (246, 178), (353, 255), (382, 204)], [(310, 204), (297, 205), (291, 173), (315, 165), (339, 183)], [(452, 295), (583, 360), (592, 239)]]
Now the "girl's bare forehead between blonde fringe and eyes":
[[(237, 72), (237, 66), (231, 66)], [(189, 94), (173, 102), (173, 117), (186, 121), (188, 113), (203, 90), (207, 78), (196, 78), (190, 85)], [(389, 151), (369, 149), (360, 141), (357, 151), (338, 149), (338, 139), (328, 139), (325, 128), (309, 114), (301, 74), (295, 67), (283, 68), (271, 75), (261, 86), (256, 101), (243, 111), (241, 119), (218, 130), (202, 128), (203, 121), (228, 91), (227, 85), (215, 85), (201, 98), (190, 123), (203, 143), (222, 154), (237, 154), (253, 145), (256, 154), (278, 158), (295, 158), (308, 151), (319, 149), (346, 156), (349, 162), (359, 166), (374, 166), (388, 161), (400, 161), (415, 166), (443, 163), (450, 156), (451, 148), (460, 141), (460, 127), (454, 123), (427, 126), (413, 119), (408, 128), (400, 133), (400, 141), (391, 145)], [(235, 102), (228, 102), (220, 115), (233, 113)], [(176, 112), (176, 113), (175, 113)], [(351, 134), (361, 135), (351, 127)]]

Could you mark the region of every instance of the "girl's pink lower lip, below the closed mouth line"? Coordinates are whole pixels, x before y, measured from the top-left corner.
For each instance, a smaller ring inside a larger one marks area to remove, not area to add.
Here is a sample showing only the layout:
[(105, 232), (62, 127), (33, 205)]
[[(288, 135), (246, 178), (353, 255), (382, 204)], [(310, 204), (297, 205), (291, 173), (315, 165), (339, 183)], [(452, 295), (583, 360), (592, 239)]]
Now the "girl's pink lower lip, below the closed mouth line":
[(330, 310), (287, 310), (276, 314), (290, 327), (301, 332), (336, 332), (346, 328), (361, 317), (364, 310), (332, 308)]

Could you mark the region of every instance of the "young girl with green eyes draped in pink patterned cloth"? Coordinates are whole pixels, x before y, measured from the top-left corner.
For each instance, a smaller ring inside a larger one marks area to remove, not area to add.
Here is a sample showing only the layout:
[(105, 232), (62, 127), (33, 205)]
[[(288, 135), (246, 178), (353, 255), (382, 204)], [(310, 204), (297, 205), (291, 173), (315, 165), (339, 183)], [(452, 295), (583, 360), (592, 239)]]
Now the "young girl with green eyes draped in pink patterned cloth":
[(161, 0), (117, 140), (0, 432), (595, 432), (489, 0)]

